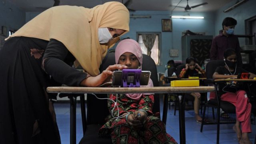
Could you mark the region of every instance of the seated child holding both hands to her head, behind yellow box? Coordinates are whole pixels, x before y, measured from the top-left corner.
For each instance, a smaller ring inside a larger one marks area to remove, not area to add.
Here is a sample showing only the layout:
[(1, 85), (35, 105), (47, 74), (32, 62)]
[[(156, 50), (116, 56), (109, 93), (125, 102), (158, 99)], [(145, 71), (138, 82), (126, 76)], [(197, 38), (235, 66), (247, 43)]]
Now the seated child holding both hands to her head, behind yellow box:
[[(206, 77), (205, 71), (196, 63), (196, 60), (192, 57), (186, 59), (186, 67), (180, 72), (179, 78), (188, 78), (194, 76), (195, 74), (202, 74), (202, 77)], [(200, 98), (201, 94), (199, 92), (191, 93), (194, 96), (194, 111), (196, 121), (201, 123), (202, 118), (199, 116)]]

